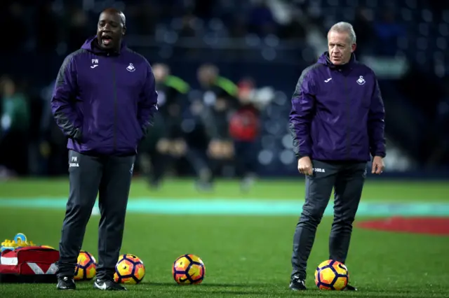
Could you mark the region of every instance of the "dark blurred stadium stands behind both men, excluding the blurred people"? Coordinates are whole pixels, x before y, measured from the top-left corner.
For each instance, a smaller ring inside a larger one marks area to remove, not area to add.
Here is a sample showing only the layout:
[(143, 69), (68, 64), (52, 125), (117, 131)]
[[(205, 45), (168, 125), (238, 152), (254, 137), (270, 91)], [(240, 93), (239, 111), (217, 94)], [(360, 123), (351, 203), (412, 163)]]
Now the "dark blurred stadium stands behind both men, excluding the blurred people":
[[(0, 76), (12, 78), (27, 113), (15, 136), (1, 143), (0, 164), (20, 175), (67, 173), (65, 139), (48, 115), (49, 91), (65, 55), (95, 34), (107, 6), (126, 13), (130, 48), (152, 64), (168, 64), (193, 88), (196, 69), (208, 62), (234, 83), (250, 77), (274, 90), (254, 152), (260, 176), (296, 174), (290, 96), (302, 69), (326, 49), (330, 25), (351, 22), (356, 57), (375, 70), (384, 97), (384, 176), (448, 177), (449, 7), (417, 0), (1, 1)], [(191, 170), (181, 160), (176, 173)]]

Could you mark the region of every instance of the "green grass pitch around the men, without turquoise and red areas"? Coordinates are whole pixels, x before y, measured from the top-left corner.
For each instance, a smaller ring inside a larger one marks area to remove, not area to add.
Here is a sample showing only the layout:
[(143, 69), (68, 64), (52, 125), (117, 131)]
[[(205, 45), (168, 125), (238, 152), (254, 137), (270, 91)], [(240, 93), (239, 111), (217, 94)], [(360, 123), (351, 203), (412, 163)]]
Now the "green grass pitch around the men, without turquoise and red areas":
[[(10, 180), (0, 183), (0, 198), (67, 196), (67, 180)], [(363, 201), (449, 203), (449, 183), (369, 181)], [(199, 194), (191, 180), (167, 180), (151, 190), (133, 182), (133, 198), (292, 199), (303, 201), (303, 180), (261, 180), (246, 194), (236, 181), (217, 183), (215, 192)], [(185, 208), (189, 208), (186, 204)], [(300, 210), (297, 211), (300, 214)], [(128, 292), (93, 290), (92, 281), (74, 292), (53, 284), (1, 284), (0, 297), (449, 297), (449, 237), (377, 232), (354, 227), (347, 267), (358, 292), (320, 291), (314, 270), (328, 258), (332, 218), (319, 226), (309, 259), (307, 292), (288, 290), (292, 239), (298, 215), (154, 215), (128, 213), (121, 253), (138, 255), (146, 266), (140, 285)], [(22, 232), (41, 245), (58, 247), (63, 209), (0, 206), (0, 239)], [(357, 220), (367, 219), (358, 216)], [(88, 224), (83, 250), (98, 257), (98, 221)], [(171, 266), (179, 255), (199, 255), (206, 265), (201, 285), (178, 286)]]

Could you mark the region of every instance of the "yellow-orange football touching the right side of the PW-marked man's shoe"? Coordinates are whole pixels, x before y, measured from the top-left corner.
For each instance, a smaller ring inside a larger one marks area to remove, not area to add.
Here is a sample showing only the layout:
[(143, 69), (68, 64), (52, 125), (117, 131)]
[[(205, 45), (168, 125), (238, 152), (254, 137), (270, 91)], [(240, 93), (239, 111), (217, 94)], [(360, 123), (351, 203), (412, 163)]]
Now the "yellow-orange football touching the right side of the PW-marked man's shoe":
[(145, 266), (135, 255), (121, 255), (115, 265), (114, 281), (137, 285), (145, 276)]

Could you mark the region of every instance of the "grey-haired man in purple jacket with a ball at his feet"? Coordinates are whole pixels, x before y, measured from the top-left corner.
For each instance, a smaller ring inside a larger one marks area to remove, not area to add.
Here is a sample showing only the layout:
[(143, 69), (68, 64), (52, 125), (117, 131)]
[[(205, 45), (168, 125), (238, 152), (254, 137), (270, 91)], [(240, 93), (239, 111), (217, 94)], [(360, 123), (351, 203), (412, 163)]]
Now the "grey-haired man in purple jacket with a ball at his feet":
[(384, 169), (384, 104), (375, 73), (356, 61), (355, 49), (351, 24), (333, 25), (328, 52), (302, 71), (292, 97), (290, 132), (298, 171), (306, 175), (305, 203), (293, 239), (292, 290), (306, 289), (307, 259), (332, 190), (329, 258), (344, 263), (370, 155), (371, 173)]

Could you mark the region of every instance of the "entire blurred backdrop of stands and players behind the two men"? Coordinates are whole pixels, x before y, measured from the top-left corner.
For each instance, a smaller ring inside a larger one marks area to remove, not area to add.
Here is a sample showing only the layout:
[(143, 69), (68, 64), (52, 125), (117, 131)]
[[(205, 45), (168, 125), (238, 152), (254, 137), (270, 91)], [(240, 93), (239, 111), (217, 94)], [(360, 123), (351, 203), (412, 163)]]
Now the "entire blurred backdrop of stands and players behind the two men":
[(154, 68), (160, 113), (136, 173), (296, 175), (287, 129), (302, 69), (335, 22), (354, 25), (387, 111), (386, 173), (449, 175), (449, 2), (419, 0), (1, 1), (0, 176), (67, 173), (49, 101), (64, 57), (114, 6)]

